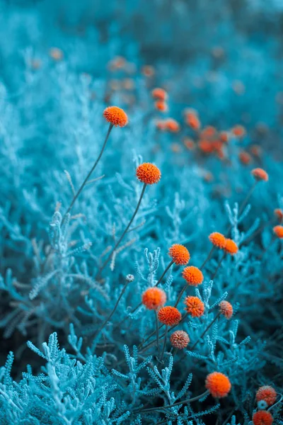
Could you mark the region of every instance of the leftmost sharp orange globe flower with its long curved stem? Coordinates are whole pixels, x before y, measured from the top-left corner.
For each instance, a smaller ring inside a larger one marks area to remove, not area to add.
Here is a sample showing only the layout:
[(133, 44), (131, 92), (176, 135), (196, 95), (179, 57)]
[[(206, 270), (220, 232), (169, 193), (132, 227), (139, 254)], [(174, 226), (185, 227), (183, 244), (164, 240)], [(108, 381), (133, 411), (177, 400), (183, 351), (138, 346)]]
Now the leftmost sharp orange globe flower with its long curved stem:
[(96, 159), (96, 162), (93, 164), (91, 170), (88, 172), (86, 179), (84, 179), (83, 183), (81, 184), (79, 191), (76, 192), (73, 200), (71, 201), (69, 207), (67, 208), (67, 211), (65, 212), (64, 217), (62, 219), (62, 224), (63, 224), (64, 220), (66, 220), (67, 214), (69, 214), (69, 212), (71, 211), (71, 208), (73, 207), (74, 203), (76, 202), (76, 199), (79, 197), (84, 186), (86, 186), (86, 183), (87, 183), (88, 179), (91, 177), (91, 174), (93, 174), (93, 171), (96, 169), (96, 166), (97, 166), (98, 162), (100, 161), (100, 158), (102, 157), (103, 151), (105, 149), (106, 143), (108, 141), (108, 137), (110, 135), (110, 132), (111, 132), (113, 126), (115, 125), (117, 127), (117, 125), (120, 125), (120, 127), (125, 127), (125, 125), (127, 125), (127, 122), (128, 122), (127, 114), (125, 113), (125, 111), (123, 111), (121, 108), (118, 108), (117, 106), (109, 106), (108, 108), (106, 108), (105, 111), (103, 112), (103, 116), (104, 116), (105, 120), (108, 121), (108, 123), (110, 123), (107, 135), (106, 135), (104, 143), (103, 143), (103, 147), (100, 150), (100, 153), (98, 155), (98, 159)]

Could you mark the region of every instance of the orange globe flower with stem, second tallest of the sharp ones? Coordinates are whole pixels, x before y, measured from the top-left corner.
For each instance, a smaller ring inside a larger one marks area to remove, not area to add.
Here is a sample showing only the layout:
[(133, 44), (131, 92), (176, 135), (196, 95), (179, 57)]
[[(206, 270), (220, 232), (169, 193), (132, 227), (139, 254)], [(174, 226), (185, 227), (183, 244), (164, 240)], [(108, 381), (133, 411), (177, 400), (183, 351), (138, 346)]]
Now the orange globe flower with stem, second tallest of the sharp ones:
[(132, 225), (132, 222), (134, 221), (134, 217), (136, 217), (137, 212), (139, 210), (139, 206), (141, 205), (141, 200), (144, 196), (146, 186), (154, 184), (154, 183), (158, 183), (158, 181), (161, 179), (161, 172), (156, 165), (151, 164), (149, 162), (144, 162), (144, 164), (140, 164), (137, 167), (136, 176), (137, 176), (137, 179), (139, 181), (141, 181), (141, 183), (144, 183), (144, 186), (141, 190), (141, 195), (139, 197), (139, 201), (137, 203), (137, 207), (134, 210), (134, 214), (132, 215), (131, 220), (129, 220), (129, 223), (128, 223), (127, 227), (125, 228), (124, 232), (122, 233), (122, 235), (120, 236), (120, 238), (116, 242), (114, 248), (112, 248), (112, 250), (110, 251), (110, 254), (108, 255), (107, 259), (104, 261), (103, 265), (100, 267), (100, 269), (99, 269), (99, 271), (96, 275), (96, 279), (98, 279), (100, 277), (100, 274), (103, 271), (103, 268), (105, 268), (105, 266), (108, 264), (108, 262), (112, 258), (112, 255), (115, 253), (117, 247), (120, 245), (120, 242), (122, 242), (122, 239), (125, 237), (125, 234), (129, 230), (129, 227)]

